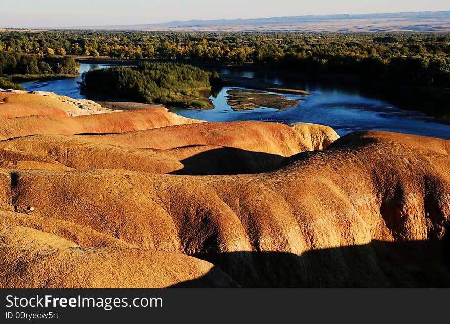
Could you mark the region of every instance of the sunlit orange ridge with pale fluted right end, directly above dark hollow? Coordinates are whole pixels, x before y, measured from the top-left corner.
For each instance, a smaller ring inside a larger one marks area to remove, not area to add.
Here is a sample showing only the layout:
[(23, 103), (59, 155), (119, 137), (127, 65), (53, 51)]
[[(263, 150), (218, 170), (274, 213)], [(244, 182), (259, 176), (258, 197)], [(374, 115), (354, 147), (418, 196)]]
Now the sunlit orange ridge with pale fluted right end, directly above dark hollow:
[[(86, 141), (124, 147), (173, 149), (194, 145), (219, 145), (252, 152), (291, 156), (323, 149), (339, 138), (328, 126), (308, 124), (309, 128), (267, 122), (202, 123), (178, 125), (139, 132), (82, 136)], [(312, 135), (311, 135), (312, 134)], [(312, 142), (312, 138), (319, 141)]]

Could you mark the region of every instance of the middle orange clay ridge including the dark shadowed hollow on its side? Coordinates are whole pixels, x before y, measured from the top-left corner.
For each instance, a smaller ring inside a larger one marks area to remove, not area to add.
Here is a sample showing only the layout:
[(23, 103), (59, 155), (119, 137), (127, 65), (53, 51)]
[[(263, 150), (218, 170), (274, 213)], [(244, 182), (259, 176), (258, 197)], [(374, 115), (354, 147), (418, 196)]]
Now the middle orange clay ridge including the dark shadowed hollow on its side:
[[(196, 128), (170, 126), (123, 136), (33, 135), (0, 141), (0, 148), (21, 152), (23, 158), (17, 156), (14, 165), (4, 164), (15, 169), (24, 169), (24, 165), (28, 169), (63, 170), (55, 169), (55, 165), (62, 165), (76, 170), (255, 173), (273, 170), (285, 156), (326, 148), (339, 137), (327, 126), (308, 125), (309, 128), (301, 129), (258, 122), (203, 123)], [(30, 168), (30, 160), (49, 164)]]

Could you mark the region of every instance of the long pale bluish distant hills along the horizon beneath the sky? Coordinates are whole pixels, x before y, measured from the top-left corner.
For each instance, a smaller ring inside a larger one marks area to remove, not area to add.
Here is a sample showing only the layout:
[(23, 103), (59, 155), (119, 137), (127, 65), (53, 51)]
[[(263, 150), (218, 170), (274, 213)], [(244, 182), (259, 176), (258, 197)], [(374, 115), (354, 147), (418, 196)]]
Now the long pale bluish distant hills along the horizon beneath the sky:
[(80, 26), (74, 28), (151, 31), (449, 32), (450, 11), (190, 20), (171, 21), (162, 24)]

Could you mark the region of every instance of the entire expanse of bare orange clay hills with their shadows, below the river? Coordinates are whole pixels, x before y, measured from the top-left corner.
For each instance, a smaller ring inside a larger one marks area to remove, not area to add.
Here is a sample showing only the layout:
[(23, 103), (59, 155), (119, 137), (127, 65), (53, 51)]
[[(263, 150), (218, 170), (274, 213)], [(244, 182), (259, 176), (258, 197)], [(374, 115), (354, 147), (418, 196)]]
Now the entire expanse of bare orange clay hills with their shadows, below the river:
[(2, 288), (450, 286), (450, 141), (20, 96)]

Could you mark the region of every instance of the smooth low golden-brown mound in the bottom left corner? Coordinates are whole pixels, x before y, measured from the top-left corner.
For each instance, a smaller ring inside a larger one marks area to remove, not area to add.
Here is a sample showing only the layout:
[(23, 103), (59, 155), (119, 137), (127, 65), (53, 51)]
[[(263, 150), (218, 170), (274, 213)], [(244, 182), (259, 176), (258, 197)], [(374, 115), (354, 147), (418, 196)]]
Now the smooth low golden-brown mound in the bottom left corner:
[(239, 286), (212, 264), (183, 254), (83, 248), (21, 226), (0, 225), (0, 233), (2, 288), (163, 288), (189, 280), (200, 280), (206, 287)]

